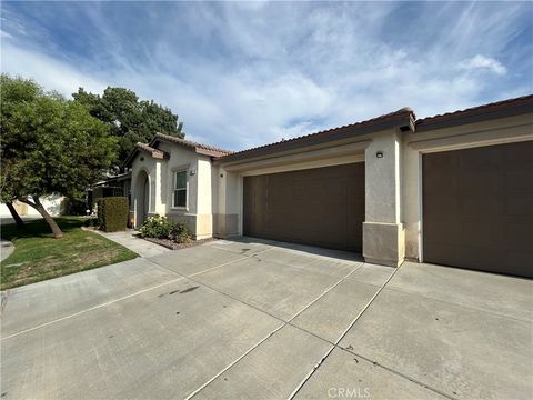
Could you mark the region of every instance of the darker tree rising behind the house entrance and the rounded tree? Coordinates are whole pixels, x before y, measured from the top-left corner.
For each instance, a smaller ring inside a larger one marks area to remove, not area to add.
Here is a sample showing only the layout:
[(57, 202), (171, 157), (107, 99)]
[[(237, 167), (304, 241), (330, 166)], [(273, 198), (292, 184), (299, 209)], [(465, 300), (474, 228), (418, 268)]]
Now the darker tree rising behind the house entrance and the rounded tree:
[(80, 88), (72, 93), (74, 100), (87, 106), (91, 116), (105, 122), (111, 134), (119, 140), (115, 162), (121, 166), (137, 142), (150, 141), (155, 132), (183, 138), (183, 123), (168, 108), (152, 101), (139, 101), (138, 96), (124, 88), (108, 87), (103, 94), (93, 94)]

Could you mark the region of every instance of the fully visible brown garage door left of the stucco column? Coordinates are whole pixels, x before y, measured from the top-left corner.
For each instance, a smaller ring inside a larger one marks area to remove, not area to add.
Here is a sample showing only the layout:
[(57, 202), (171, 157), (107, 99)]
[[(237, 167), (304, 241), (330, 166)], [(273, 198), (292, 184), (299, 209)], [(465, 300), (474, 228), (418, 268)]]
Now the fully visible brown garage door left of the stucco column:
[(364, 163), (244, 178), (245, 236), (361, 251)]

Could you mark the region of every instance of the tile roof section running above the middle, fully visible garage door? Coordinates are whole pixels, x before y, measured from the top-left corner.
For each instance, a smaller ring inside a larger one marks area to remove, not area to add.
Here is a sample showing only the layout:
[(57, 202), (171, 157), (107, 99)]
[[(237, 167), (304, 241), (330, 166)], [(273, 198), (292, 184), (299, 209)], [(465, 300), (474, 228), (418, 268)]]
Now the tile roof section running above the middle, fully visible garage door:
[(281, 140), (274, 143), (258, 146), (251, 149), (241, 150), (228, 156), (219, 157), (217, 158), (217, 160), (220, 160), (222, 162), (233, 161), (233, 160), (245, 158), (245, 157), (263, 154), (265, 152), (282, 151), (282, 150), (285, 150), (289, 146), (291, 148), (298, 147), (300, 144), (305, 146), (315, 140), (326, 141), (326, 140), (342, 139), (342, 138), (339, 138), (339, 136), (345, 136), (345, 134), (353, 136), (358, 133), (363, 134), (363, 133), (366, 133), (368, 131), (380, 130), (383, 128), (383, 124), (386, 124), (390, 122), (402, 122), (402, 121), (404, 122), (408, 120), (412, 120), (412, 122), (414, 123), (414, 118), (415, 117), (414, 117), (413, 110), (410, 109), (409, 107), (404, 107), (398, 111), (386, 113), (380, 117), (375, 117), (365, 121), (351, 123), (351, 124), (342, 126), (339, 128), (332, 128), (332, 129), (328, 129), (328, 130), (323, 130), (314, 133), (309, 133), (298, 138)]

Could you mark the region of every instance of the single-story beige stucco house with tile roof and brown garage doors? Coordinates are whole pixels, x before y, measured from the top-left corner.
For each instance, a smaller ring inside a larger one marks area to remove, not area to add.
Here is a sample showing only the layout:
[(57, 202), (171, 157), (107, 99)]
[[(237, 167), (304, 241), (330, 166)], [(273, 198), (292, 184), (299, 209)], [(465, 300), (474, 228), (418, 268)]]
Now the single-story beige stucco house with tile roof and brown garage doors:
[(230, 152), (164, 134), (138, 143), (137, 226), (251, 236), (533, 277), (533, 96), (416, 120), (371, 120)]

